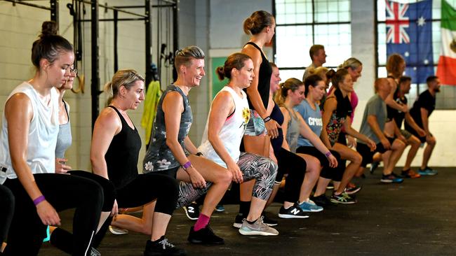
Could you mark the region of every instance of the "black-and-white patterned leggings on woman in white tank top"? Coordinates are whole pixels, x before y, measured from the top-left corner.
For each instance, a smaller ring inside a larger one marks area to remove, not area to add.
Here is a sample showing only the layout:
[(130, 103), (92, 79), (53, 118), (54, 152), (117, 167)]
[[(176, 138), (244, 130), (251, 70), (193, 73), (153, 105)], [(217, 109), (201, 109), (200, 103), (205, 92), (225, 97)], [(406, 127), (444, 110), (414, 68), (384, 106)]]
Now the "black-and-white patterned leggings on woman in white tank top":
[[(241, 152), (238, 161), (244, 181), (256, 179), (252, 196), (266, 201), (272, 192), (272, 186), (277, 174), (277, 164), (271, 159)], [(176, 208), (187, 206), (192, 201), (206, 194), (212, 183), (206, 183), (206, 188), (195, 189), (192, 183), (180, 182), (179, 199)]]

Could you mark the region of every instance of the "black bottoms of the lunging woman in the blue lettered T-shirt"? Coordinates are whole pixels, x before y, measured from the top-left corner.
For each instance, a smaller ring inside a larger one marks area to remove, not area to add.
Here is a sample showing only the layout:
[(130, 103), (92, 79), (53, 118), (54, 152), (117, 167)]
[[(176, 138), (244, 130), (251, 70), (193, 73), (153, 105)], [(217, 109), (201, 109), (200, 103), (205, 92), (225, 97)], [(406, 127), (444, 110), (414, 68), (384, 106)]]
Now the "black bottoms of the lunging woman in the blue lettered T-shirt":
[(320, 177), (328, 178), (334, 181), (340, 181), (342, 180), (342, 176), (344, 175), (345, 166), (344, 164), (341, 164), (342, 160), (340, 159), (340, 154), (338, 152), (335, 152), (334, 150), (330, 151), (331, 154), (333, 154), (334, 157), (337, 159), (336, 168), (331, 168), (329, 166), (329, 161), (328, 158), (326, 158), (326, 155), (323, 155), (323, 153), (318, 151), (315, 147), (302, 146), (297, 148), (296, 150), (296, 152), (298, 153), (316, 157), (320, 161), (321, 167), (323, 167), (323, 169), (321, 169)]

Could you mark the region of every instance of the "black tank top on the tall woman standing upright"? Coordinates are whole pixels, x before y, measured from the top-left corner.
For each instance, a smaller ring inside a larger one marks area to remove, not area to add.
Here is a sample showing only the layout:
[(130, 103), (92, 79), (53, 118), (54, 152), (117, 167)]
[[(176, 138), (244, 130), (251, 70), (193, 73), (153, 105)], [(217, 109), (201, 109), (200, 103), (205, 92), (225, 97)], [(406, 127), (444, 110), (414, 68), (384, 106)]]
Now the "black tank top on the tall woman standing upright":
[[(261, 53), (261, 64), (260, 70), (258, 71), (258, 92), (260, 93), (261, 100), (263, 101), (264, 108), (267, 108), (267, 104), (269, 103), (269, 87), (271, 85), (271, 75), (272, 75), (272, 67), (269, 64), (266, 56), (264, 56), (263, 51), (253, 42), (248, 42), (246, 45), (253, 45), (253, 47), (257, 48)], [(247, 91), (246, 89), (244, 89)], [(250, 98), (247, 94), (248, 106), (250, 109), (253, 108), (252, 103), (250, 102)]]

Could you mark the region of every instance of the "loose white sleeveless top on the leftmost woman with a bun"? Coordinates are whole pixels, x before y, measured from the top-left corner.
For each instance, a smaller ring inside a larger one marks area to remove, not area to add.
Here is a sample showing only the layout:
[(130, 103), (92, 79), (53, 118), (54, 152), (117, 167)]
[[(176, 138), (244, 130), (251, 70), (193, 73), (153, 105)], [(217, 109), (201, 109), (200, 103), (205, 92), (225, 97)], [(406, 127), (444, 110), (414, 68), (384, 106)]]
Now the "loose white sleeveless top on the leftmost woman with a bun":
[[(15, 87), (8, 99), (17, 93), (24, 93), (29, 97), (33, 110), (28, 134), (27, 164), (32, 173), (55, 173), (55, 144), (59, 130), (58, 92), (55, 88), (51, 89), (51, 100), (48, 105), (41, 101), (38, 92), (29, 83), (24, 82)], [(18, 178), (11, 165), (8, 123), (4, 113), (0, 135), (0, 172), (4, 173), (1, 170), (5, 168), (7, 178)]]

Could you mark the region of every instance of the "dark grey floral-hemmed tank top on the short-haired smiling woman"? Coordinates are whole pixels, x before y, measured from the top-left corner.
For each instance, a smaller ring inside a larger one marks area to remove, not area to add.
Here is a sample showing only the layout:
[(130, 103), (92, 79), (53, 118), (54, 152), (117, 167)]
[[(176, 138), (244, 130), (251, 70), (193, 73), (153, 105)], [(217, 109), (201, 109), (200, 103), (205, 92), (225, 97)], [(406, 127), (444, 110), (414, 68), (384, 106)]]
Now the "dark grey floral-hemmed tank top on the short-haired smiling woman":
[(192, 126), (193, 116), (192, 108), (189, 104), (187, 95), (175, 85), (168, 85), (166, 91), (161, 95), (159, 104), (156, 108), (156, 117), (154, 127), (152, 129), (152, 136), (149, 148), (147, 149), (144, 161), (142, 162), (142, 171), (149, 173), (151, 171), (164, 171), (173, 169), (180, 166), (180, 163), (175, 159), (173, 152), (166, 145), (166, 127), (165, 127), (165, 113), (163, 108), (163, 99), (165, 99), (168, 92), (179, 92), (182, 96), (184, 104), (184, 112), (180, 116), (179, 134), (177, 134), (177, 141), (179, 141), (182, 149), (185, 151), (184, 140), (189, 134), (190, 127)]

